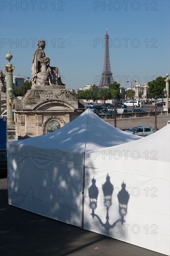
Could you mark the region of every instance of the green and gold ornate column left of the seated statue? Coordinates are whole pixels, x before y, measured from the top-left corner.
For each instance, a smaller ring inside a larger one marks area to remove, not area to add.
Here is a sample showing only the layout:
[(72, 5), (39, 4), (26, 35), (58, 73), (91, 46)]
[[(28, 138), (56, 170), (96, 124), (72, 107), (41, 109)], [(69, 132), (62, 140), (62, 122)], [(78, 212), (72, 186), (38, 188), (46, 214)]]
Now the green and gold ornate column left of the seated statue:
[(6, 79), (7, 79), (7, 125), (14, 125), (14, 114), (12, 110), (12, 102), (13, 102), (13, 70), (14, 67), (10, 63), (13, 56), (12, 54), (6, 54), (6, 59), (8, 61), (7, 65), (4, 67), (6, 71)]

